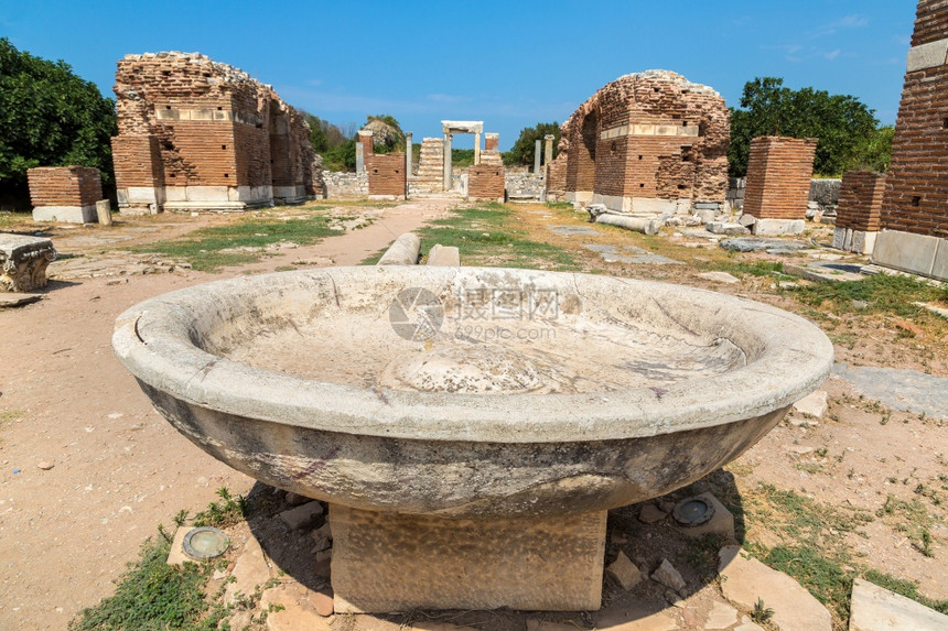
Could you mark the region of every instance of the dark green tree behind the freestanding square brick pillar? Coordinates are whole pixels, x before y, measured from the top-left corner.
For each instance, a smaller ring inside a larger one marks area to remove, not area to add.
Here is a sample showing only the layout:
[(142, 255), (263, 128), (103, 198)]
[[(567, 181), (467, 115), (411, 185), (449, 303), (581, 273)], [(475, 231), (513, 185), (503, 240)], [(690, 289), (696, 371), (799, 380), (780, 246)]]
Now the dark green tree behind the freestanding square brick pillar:
[(814, 172), (840, 175), (859, 162), (879, 133), (874, 111), (853, 96), (791, 90), (784, 79), (757, 77), (744, 85), (741, 109), (731, 109), (731, 174), (746, 174), (752, 139), (786, 135), (819, 139)]

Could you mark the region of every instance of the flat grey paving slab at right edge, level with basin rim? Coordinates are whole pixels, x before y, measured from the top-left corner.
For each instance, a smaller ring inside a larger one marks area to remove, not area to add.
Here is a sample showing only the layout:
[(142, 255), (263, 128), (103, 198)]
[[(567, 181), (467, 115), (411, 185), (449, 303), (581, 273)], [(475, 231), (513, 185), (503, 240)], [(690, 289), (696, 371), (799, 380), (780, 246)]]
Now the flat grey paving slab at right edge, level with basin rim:
[(948, 379), (898, 368), (850, 368), (837, 363), (833, 373), (855, 390), (893, 410), (948, 418)]

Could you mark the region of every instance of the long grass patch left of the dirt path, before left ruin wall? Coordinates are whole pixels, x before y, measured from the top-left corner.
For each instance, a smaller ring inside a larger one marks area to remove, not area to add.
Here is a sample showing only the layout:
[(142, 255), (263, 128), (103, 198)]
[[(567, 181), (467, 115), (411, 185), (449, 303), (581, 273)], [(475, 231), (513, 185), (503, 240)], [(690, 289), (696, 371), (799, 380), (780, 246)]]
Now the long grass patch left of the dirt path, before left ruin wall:
[(341, 235), (342, 230), (328, 227), (331, 220), (331, 217), (323, 215), (291, 219), (244, 219), (227, 226), (200, 228), (180, 239), (140, 246), (136, 251), (184, 260), (193, 269), (207, 272), (257, 261), (266, 254), (266, 248), (274, 243), (312, 246), (325, 237)]

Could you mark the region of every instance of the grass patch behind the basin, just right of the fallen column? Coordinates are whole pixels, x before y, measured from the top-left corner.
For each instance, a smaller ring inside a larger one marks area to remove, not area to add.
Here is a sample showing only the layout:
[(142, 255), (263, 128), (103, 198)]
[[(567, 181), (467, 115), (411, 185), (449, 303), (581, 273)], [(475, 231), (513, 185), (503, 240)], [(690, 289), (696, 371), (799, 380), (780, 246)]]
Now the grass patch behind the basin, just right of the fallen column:
[(518, 227), (515, 211), (504, 204), (461, 208), (452, 217), (421, 228), (417, 235), (421, 239), (422, 252), (427, 253), (435, 243), (454, 246), (461, 250), (464, 265), (556, 271), (581, 269), (571, 252), (529, 239), (527, 232)]

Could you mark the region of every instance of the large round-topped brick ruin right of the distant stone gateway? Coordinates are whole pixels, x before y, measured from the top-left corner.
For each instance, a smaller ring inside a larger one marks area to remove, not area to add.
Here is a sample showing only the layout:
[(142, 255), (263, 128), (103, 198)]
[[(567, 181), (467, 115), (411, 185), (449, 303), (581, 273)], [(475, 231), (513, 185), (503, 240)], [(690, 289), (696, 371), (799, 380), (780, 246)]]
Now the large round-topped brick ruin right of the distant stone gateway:
[(611, 210), (723, 204), (731, 116), (713, 89), (648, 70), (607, 84), (562, 124), (548, 189)]

